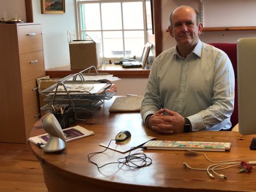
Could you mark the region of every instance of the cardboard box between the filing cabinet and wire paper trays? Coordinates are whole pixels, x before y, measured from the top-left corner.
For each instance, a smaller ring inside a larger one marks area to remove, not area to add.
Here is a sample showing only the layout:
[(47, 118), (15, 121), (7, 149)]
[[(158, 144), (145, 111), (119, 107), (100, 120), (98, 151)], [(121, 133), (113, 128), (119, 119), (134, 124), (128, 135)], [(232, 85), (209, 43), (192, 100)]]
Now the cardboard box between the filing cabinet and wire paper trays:
[[(40, 108), (45, 106), (47, 103), (44, 101), (46, 98), (45, 95), (42, 95), (42, 91), (58, 82), (58, 79), (50, 79), (50, 76), (43, 76), (42, 78), (36, 79), (38, 83), (38, 92), (39, 92), (39, 104)], [(44, 116), (45, 112), (40, 110), (41, 117)]]

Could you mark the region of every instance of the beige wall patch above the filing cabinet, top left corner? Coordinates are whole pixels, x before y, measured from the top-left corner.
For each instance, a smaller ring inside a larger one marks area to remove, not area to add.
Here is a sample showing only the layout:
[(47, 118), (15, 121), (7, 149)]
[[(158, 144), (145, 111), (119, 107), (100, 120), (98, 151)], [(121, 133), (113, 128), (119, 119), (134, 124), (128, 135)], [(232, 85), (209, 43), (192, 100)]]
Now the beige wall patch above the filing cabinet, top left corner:
[(0, 18), (4, 18), (4, 10), (6, 19), (17, 18), (26, 22), (25, 0), (0, 0)]

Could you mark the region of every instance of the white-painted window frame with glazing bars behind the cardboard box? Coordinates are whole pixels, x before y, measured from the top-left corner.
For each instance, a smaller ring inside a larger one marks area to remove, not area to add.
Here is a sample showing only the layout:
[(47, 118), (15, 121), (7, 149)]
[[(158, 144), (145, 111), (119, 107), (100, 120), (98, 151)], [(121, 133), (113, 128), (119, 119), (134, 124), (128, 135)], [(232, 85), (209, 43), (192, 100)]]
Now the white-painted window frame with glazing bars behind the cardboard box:
[[(143, 7), (143, 29), (124, 29), (124, 20), (123, 20), (123, 3), (126, 2), (142, 2)], [(125, 56), (125, 38), (124, 38), (124, 31), (143, 31), (144, 33), (144, 44), (147, 43), (147, 18), (146, 18), (146, 9), (145, 9), (145, 0), (95, 0), (95, 1), (89, 1), (89, 0), (77, 0), (76, 1), (76, 14), (77, 14), (77, 36), (78, 39), (82, 40), (83, 32), (86, 30), (82, 30), (82, 17), (81, 17), (81, 4), (87, 4), (87, 3), (99, 3), (100, 4), (100, 12), (101, 12), (101, 3), (121, 3), (121, 22), (122, 22), (122, 29), (118, 30), (103, 30), (102, 29), (102, 21), (101, 22), (101, 29), (100, 30), (87, 30), (87, 31), (99, 31), (101, 33), (101, 37), (103, 37), (103, 31), (121, 31), (123, 36), (123, 56)], [(102, 57), (103, 59), (115, 59), (117, 57), (105, 57), (104, 56), (104, 44), (103, 44), (103, 38), (101, 38), (101, 44), (102, 44)], [(120, 57), (118, 57), (120, 58)]]

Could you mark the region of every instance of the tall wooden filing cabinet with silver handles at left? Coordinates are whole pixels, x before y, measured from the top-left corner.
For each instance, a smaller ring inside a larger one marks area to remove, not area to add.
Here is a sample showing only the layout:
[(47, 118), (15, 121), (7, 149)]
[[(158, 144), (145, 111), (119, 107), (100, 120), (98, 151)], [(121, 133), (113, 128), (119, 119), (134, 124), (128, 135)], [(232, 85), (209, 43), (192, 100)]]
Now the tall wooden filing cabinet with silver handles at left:
[(27, 143), (40, 117), (36, 78), (45, 76), (41, 24), (0, 23), (0, 142)]

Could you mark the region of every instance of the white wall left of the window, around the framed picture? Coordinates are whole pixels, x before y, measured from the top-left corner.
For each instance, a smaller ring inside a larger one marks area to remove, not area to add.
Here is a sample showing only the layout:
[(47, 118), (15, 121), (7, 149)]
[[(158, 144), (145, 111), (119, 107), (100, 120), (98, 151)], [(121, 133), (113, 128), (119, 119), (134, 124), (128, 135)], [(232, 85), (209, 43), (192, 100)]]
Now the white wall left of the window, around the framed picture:
[(41, 14), (41, 3), (33, 0), (35, 23), (42, 24), (45, 68), (70, 65), (68, 30), (76, 39), (75, 0), (65, 1), (65, 14)]

